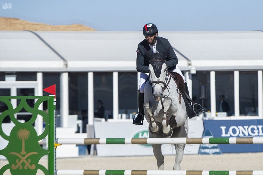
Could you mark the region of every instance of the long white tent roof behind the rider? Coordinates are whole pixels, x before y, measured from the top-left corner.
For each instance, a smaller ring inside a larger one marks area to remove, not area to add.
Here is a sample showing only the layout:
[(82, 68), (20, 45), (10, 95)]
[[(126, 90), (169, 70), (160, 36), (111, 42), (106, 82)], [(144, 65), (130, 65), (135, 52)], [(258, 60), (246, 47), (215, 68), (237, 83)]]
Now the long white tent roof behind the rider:
[[(181, 70), (263, 69), (261, 31), (159, 36), (169, 39)], [(141, 31), (0, 31), (0, 71), (136, 71), (143, 39)]]

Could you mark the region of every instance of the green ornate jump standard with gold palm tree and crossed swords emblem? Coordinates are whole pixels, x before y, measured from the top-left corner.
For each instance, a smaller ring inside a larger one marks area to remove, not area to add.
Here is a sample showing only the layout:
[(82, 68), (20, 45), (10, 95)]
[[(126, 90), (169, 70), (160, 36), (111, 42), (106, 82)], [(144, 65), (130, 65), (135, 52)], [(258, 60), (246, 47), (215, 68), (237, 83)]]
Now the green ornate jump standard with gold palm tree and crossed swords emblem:
[[(11, 99), (20, 99), (16, 108), (13, 108)], [(27, 99), (35, 99), (33, 108), (27, 104)], [(44, 101), (47, 101), (48, 113), (38, 109)], [(9, 141), (6, 148), (0, 150), (0, 155), (5, 156), (8, 160), (8, 164), (0, 169), (0, 174), (8, 169), (12, 175), (35, 175), (38, 169), (43, 171), (45, 175), (54, 174), (56, 168), (54, 149), (56, 104), (54, 96), (0, 96), (0, 102), (8, 107), (0, 114), (0, 135)], [(25, 123), (21, 123), (15, 118), (15, 113), (20, 112), (23, 108), (32, 114), (32, 118)], [(2, 122), (8, 115), (15, 124), (9, 136), (2, 129)], [(39, 136), (32, 126), (38, 115), (42, 116), (46, 122), (46, 127)], [(48, 136), (47, 150), (39, 145), (39, 141), (46, 136)], [(45, 155), (48, 156), (48, 169), (39, 164), (39, 160)]]

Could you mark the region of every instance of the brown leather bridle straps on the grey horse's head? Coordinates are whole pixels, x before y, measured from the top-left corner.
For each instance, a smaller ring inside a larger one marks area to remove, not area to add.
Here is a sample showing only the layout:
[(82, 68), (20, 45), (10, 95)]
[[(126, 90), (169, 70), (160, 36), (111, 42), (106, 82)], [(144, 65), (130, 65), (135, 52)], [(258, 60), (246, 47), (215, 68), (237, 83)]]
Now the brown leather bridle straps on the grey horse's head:
[[(149, 62), (165, 62), (165, 60), (150, 60)], [(166, 64), (166, 63), (165, 63), (165, 64)], [(155, 87), (157, 84), (159, 84), (161, 87), (162, 87), (161, 84), (163, 84), (162, 92), (164, 92), (166, 88), (167, 88), (167, 90), (168, 90), (168, 94), (165, 95), (165, 96), (163, 96), (163, 97), (168, 97), (169, 94), (170, 94), (170, 92), (171, 92), (171, 89), (170, 89), (169, 86), (168, 86), (169, 83), (170, 83), (170, 80), (171, 80), (171, 75), (169, 75), (167, 66), (166, 66), (166, 71), (165, 71), (165, 81), (151, 81), (151, 80), (150, 80), (150, 76), (149, 76), (148, 81), (149, 81), (150, 85), (152, 85), (152, 93), (153, 93), (153, 91), (154, 91), (154, 87)], [(156, 83), (156, 84), (153, 86), (152, 83)]]

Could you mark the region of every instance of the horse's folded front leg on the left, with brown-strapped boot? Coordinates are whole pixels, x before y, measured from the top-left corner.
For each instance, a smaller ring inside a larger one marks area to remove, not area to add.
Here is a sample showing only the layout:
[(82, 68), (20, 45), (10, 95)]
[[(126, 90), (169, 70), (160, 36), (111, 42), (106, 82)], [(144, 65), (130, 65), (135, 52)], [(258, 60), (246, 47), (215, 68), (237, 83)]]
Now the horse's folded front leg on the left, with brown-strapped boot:
[(153, 111), (153, 105), (150, 101), (145, 101), (143, 105), (144, 105), (144, 108), (146, 109), (146, 111), (148, 113), (148, 117), (150, 118), (149, 130), (151, 133), (157, 134), (160, 130), (159, 130), (157, 122), (153, 116), (153, 112), (152, 112)]

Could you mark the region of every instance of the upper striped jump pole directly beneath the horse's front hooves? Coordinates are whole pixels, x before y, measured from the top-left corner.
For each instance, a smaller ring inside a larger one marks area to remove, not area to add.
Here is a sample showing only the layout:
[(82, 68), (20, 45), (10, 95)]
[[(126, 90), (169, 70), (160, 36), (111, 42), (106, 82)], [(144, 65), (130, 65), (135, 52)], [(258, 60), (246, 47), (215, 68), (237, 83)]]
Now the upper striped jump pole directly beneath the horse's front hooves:
[(86, 138), (86, 139), (56, 139), (56, 144), (263, 144), (263, 137), (229, 137), (229, 138)]

